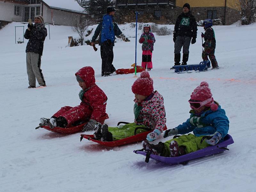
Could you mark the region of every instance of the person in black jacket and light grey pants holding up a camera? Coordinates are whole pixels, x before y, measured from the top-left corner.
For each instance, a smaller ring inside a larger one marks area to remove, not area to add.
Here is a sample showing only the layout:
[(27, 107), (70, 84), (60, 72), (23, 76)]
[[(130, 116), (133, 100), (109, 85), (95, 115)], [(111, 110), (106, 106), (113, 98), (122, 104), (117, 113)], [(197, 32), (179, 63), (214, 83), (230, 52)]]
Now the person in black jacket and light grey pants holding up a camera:
[(46, 36), (47, 29), (44, 25), (44, 18), (41, 15), (36, 15), (35, 24), (28, 24), (28, 29), (24, 34), (25, 39), (29, 39), (26, 47), (28, 88), (36, 88), (36, 80), (40, 86), (46, 86), (42, 69), (40, 69)]

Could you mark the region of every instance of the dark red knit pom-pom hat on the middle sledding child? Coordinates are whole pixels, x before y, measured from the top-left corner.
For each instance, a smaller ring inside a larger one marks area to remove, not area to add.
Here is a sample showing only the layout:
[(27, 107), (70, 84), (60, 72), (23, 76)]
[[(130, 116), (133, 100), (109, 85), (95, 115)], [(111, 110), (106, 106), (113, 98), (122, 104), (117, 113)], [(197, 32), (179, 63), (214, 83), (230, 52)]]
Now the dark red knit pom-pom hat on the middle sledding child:
[(153, 79), (147, 71), (142, 71), (140, 77), (132, 85), (132, 93), (149, 96), (154, 91)]

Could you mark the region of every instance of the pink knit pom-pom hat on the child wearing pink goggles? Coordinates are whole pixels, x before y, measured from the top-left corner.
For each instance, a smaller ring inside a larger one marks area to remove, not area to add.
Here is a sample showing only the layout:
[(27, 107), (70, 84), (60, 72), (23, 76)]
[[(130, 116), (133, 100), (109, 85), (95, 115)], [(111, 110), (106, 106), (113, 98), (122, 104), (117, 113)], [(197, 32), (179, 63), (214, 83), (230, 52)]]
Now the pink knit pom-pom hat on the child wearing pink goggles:
[(211, 89), (209, 88), (209, 84), (206, 81), (202, 81), (190, 95), (190, 99), (196, 101), (205, 101), (209, 98), (212, 98), (212, 101), (208, 104), (205, 104), (204, 106), (211, 107), (212, 111), (216, 111), (218, 109), (218, 105), (214, 103)]

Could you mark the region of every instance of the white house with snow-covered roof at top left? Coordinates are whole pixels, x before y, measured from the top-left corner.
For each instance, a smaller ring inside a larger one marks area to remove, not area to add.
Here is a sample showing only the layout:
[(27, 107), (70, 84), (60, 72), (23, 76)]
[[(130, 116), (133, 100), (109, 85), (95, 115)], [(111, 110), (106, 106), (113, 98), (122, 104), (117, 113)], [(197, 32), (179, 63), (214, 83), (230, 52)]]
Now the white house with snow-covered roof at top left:
[(0, 0), (0, 21), (34, 21), (42, 15), (44, 23), (70, 26), (71, 21), (84, 15), (83, 8), (75, 0)]

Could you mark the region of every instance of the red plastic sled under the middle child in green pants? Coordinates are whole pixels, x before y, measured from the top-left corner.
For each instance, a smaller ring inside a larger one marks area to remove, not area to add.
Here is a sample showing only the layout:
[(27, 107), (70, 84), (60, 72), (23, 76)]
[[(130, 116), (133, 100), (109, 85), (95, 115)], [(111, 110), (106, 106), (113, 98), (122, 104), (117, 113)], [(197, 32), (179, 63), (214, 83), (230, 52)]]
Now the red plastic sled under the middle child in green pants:
[[(121, 123), (127, 124), (127, 122), (119, 122), (117, 124), (117, 126)], [(143, 128), (145, 129), (145, 127), (143, 127)], [(165, 125), (164, 130), (166, 130), (166, 129), (167, 129), (167, 127)], [(82, 139), (85, 138), (85, 139), (88, 139), (89, 141), (93, 141), (93, 142), (99, 143), (99, 144), (107, 146), (107, 147), (117, 147), (117, 146), (129, 144), (129, 143), (140, 142), (140, 141), (146, 140), (147, 135), (150, 132), (152, 132), (152, 130), (150, 130), (150, 131), (136, 134), (136, 131), (137, 131), (137, 128), (134, 131), (134, 135), (132, 135), (130, 137), (126, 137), (124, 139), (120, 139), (120, 140), (116, 140), (116, 141), (107, 141), (107, 142), (102, 142), (102, 141), (94, 139), (93, 134), (92, 135), (81, 134), (80, 141), (82, 141)]]

